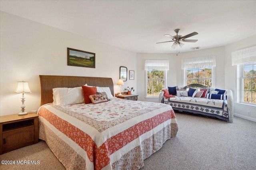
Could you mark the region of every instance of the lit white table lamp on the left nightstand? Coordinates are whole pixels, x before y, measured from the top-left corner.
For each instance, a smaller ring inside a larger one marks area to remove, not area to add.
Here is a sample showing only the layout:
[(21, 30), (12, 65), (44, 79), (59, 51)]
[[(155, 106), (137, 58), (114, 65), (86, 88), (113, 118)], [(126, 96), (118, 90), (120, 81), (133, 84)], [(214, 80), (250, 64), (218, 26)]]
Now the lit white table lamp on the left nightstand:
[(21, 102), (22, 102), (22, 105), (20, 106), (21, 107), (21, 112), (18, 113), (18, 115), (26, 115), (28, 114), (28, 112), (25, 111), (25, 98), (24, 98), (24, 94), (25, 93), (31, 93), (31, 90), (29, 89), (28, 87), (28, 82), (18, 82), (18, 87), (17, 87), (17, 90), (15, 91), (15, 93), (22, 93), (22, 98), (21, 98)]

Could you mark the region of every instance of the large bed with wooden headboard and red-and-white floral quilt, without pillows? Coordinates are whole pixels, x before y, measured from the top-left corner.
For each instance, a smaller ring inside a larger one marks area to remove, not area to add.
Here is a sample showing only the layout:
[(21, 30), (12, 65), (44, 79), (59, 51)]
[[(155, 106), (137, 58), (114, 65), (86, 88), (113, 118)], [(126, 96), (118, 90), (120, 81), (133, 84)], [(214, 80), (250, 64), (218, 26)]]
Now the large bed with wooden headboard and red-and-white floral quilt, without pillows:
[(40, 82), (39, 138), (68, 170), (140, 169), (178, 131), (166, 104), (115, 97), (99, 104), (52, 104), (53, 88), (88, 84), (107, 87), (114, 96), (112, 78), (40, 75)]

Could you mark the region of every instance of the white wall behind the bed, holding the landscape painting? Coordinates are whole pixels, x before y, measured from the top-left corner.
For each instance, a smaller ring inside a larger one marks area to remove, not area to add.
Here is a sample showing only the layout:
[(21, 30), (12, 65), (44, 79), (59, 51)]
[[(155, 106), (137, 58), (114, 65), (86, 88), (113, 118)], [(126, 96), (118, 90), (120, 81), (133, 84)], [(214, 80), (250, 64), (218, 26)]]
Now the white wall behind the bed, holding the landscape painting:
[[(0, 115), (20, 112), (22, 94), (14, 92), (22, 80), (28, 81), (32, 91), (25, 94), (26, 111), (39, 108), (39, 75), (111, 77), (118, 93), (119, 67), (126, 66), (135, 71), (135, 78), (124, 84), (137, 92), (134, 52), (5, 12), (0, 13), (0, 34)], [(96, 68), (68, 66), (67, 47), (96, 53)]]

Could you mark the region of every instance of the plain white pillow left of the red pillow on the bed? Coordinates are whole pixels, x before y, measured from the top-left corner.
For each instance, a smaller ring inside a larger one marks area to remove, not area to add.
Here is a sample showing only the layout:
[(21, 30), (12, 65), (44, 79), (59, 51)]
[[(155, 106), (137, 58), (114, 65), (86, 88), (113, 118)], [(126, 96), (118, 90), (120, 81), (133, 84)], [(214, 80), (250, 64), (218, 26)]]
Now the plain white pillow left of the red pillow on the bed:
[(55, 106), (66, 106), (70, 104), (84, 103), (84, 92), (82, 87), (75, 88), (53, 88), (53, 104)]

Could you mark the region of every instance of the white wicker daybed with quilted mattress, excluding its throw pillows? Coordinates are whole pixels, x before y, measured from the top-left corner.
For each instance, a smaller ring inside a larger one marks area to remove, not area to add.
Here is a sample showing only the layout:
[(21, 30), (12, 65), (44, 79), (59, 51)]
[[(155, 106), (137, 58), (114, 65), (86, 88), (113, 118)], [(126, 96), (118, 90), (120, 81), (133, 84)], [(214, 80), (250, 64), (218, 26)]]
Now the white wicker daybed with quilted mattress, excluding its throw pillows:
[(162, 91), (159, 94), (159, 102), (172, 106), (172, 108), (176, 111), (199, 114), (207, 117), (215, 117), (233, 123), (233, 95), (231, 90), (225, 90), (225, 92), (221, 90), (224, 92), (224, 95), (215, 95), (213, 92), (215, 96), (221, 96), (222, 99), (224, 98), (224, 100), (212, 99), (214, 97), (211, 98), (211, 96), (214, 95), (212, 95), (212, 93), (210, 94), (210, 92), (215, 91), (216, 89), (209, 88), (200, 84), (190, 84), (181, 88), (176, 86), (176, 91), (174, 91), (174, 93), (184, 92), (183, 90), (188, 91), (190, 88), (197, 89), (198, 91), (200, 89), (206, 89), (205, 96), (208, 98), (196, 98), (192, 97), (192, 95), (176, 95), (172, 96), (171, 98), (165, 98), (164, 91)]

